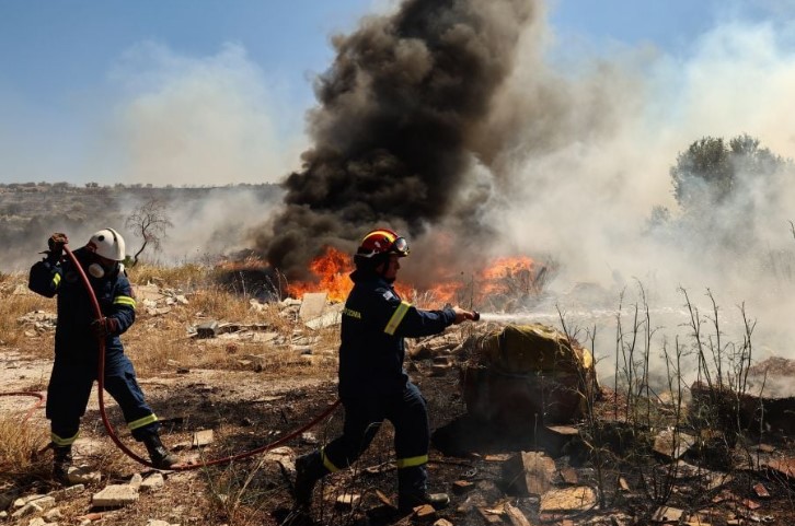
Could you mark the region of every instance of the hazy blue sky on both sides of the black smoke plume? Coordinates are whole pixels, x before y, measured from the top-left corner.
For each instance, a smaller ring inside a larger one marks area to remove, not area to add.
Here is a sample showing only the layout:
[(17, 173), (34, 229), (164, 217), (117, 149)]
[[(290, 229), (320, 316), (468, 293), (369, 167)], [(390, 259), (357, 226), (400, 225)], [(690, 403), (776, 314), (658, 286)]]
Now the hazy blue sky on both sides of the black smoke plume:
[[(557, 0), (553, 60), (656, 49), (687, 61), (733, 20), (795, 2)], [(385, 0), (0, 2), (0, 182), (214, 185), (298, 166), (331, 35)], [(784, 152), (786, 153), (786, 152)]]

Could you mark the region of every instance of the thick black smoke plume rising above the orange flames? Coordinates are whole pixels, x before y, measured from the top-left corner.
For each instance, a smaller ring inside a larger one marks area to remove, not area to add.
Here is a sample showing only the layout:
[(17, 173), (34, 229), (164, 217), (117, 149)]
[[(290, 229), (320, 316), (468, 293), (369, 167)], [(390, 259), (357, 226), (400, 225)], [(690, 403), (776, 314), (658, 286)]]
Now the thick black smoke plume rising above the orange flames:
[(407, 0), (335, 37), (308, 115), (313, 147), (257, 235), (269, 264), (307, 279), (325, 246), (352, 252), (375, 226), (417, 237), (442, 220), (474, 224), (484, 121), (532, 14), (530, 0)]

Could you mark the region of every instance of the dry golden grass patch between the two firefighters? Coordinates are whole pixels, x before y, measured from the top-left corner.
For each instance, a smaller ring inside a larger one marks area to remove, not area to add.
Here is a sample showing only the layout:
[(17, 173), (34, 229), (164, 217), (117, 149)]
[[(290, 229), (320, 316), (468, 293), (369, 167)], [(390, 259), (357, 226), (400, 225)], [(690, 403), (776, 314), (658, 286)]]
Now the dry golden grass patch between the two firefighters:
[[(315, 348), (336, 348), (338, 329), (312, 331), (292, 311), (278, 303), (252, 304), (252, 299), (215, 283), (215, 270), (198, 266), (173, 269), (138, 266), (130, 278), (136, 283), (155, 282), (161, 289), (184, 291), (188, 303), (174, 304), (164, 315), (150, 315), (139, 306), (138, 320), (125, 335), (125, 347), (140, 374), (149, 375), (178, 367), (244, 369), (250, 355), (258, 356), (265, 374), (302, 376), (336, 371), (336, 362), (322, 356), (301, 358), (292, 350), (301, 338), (316, 338)], [(201, 340), (191, 328), (209, 322), (233, 323), (261, 330)], [(270, 341), (257, 340), (262, 332), (276, 334)]]

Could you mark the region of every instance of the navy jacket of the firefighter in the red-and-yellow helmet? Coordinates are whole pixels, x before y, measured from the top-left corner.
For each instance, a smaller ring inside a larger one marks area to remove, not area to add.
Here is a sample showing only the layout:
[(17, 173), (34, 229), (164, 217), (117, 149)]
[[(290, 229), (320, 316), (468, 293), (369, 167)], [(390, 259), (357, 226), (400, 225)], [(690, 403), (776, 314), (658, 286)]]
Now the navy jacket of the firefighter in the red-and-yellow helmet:
[(422, 311), (401, 301), (392, 285), (375, 273), (354, 271), (342, 317), (339, 396), (402, 393), (404, 337), (436, 335), (456, 319), (452, 308)]

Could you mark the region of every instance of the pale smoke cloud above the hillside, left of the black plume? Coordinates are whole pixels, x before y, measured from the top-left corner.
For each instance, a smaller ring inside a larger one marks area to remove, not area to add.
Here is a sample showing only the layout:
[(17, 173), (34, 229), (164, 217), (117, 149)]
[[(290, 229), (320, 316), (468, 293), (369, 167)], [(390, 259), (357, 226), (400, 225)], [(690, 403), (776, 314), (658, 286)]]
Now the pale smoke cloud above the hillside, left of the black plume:
[(181, 56), (141, 43), (110, 74), (118, 90), (107, 122), (99, 182), (155, 186), (275, 183), (295, 168), (304, 139), (300, 119), (281, 109), (286, 86), (245, 49)]

